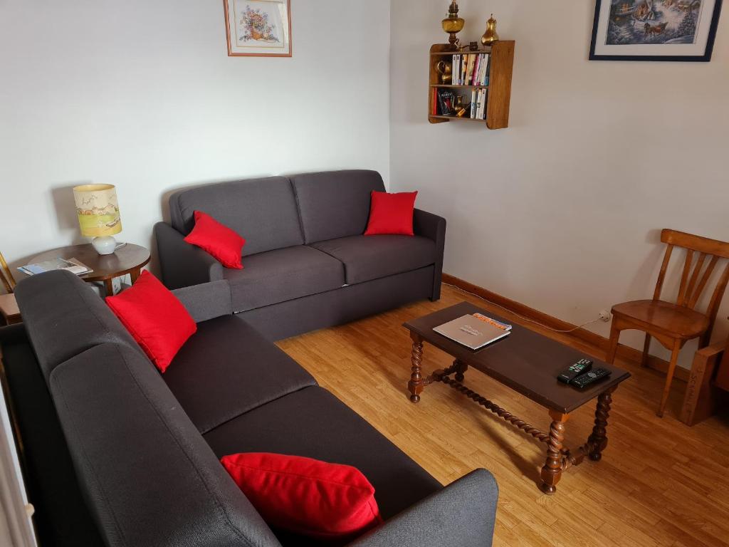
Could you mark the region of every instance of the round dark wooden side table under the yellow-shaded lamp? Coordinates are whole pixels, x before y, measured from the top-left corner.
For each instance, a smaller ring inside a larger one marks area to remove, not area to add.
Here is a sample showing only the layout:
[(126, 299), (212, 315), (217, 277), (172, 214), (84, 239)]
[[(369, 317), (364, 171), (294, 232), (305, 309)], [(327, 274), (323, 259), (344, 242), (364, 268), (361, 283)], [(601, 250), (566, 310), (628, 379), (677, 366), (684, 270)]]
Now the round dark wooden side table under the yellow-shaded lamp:
[(126, 244), (114, 251), (111, 255), (99, 255), (90, 243), (84, 245), (71, 245), (69, 247), (58, 247), (36, 255), (30, 260), (29, 264), (36, 262), (44, 262), (45, 260), (53, 260), (54, 258), (75, 258), (87, 265), (93, 271), (90, 274), (79, 276), (87, 282), (101, 281), (104, 282), (104, 288), (107, 295), (114, 294), (112, 279), (129, 274), (132, 283), (141, 274), (141, 268), (149, 263), (149, 249), (134, 245)]

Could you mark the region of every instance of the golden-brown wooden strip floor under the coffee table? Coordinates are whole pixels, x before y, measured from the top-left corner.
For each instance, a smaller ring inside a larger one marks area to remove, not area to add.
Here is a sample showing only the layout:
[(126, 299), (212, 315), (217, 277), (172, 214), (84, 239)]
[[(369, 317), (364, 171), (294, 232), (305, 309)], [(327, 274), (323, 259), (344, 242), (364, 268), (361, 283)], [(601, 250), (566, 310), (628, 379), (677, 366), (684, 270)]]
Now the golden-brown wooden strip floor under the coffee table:
[[(663, 377), (618, 362), (634, 376), (613, 396), (603, 459), (567, 470), (551, 497), (536, 487), (545, 445), (445, 384), (426, 387), (421, 403), (410, 403), (410, 338), (400, 325), (462, 300), (509, 317), (443, 287), (439, 302), (405, 306), (279, 346), (443, 484), (474, 468), (491, 470), (500, 489), (494, 546), (729, 546), (729, 419), (714, 417), (691, 428), (679, 422), (682, 382), (674, 382), (666, 416), (658, 419)], [(426, 373), (450, 363), (426, 344)], [(464, 383), (548, 430), (544, 409), (525, 397), (477, 371), (469, 371)], [(590, 405), (573, 414), (567, 446), (587, 439), (593, 410)]]

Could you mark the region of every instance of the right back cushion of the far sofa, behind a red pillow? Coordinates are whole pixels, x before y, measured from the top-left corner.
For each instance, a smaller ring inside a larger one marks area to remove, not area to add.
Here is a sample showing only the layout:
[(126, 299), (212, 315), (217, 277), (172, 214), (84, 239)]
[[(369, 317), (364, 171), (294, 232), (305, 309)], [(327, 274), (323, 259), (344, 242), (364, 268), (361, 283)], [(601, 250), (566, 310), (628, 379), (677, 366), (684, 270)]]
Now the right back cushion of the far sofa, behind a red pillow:
[(305, 243), (364, 233), (370, 193), (385, 185), (376, 171), (325, 171), (291, 177)]

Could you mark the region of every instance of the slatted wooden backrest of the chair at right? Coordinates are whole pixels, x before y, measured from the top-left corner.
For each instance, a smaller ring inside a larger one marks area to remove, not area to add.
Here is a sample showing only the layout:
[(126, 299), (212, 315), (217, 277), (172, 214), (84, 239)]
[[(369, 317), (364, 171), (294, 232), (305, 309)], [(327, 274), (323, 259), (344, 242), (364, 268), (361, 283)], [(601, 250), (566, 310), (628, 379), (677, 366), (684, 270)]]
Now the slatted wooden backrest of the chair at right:
[[(660, 299), (660, 292), (663, 290), (666, 270), (668, 269), (668, 263), (671, 261), (671, 253), (674, 247), (681, 247), (686, 249), (686, 260), (676, 303), (679, 306), (694, 309), (706, 289), (709, 279), (714, 274), (717, 264), (720, 260), (723, 262), (725, 259), (729, 259), (729, 243), (668, 229), (661, 231), (660, 241), (666, 244), (666, 255), (663, 256), (663, 264), (660, 266), (660, 274), (658, 274), (658, 282), (655, 284), (653, 300)], [(729, 261), (725, 265), (712, 298), (709, 300), (709, 307), (706, 309), (706, 315), (712, 320), (712, 323), (717, 317), (717, 311), (719, 311), (719, 305), (728, 282)]]

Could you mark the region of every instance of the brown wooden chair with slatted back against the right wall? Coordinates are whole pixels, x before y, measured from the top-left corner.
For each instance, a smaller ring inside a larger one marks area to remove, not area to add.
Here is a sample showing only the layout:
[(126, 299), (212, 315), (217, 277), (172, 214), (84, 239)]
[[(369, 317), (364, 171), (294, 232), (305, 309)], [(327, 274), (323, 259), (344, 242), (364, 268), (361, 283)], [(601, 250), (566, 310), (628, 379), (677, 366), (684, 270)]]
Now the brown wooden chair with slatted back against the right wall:
[[(729, 263), (717, 282), (717, 287), (714, 289), (706, 313), (702, 314), (695, 311), (694, 308), (699, 298), (701, 298), (703, 290), (706, 289), (717, 263), (722, 259), (729, 259), (729, 243), (701, 236), (692, 236), (690, 233), (677, 232), (676, 230), (662, 230), (660, 241), (665, 243), (667, 247), (666, 255), (663, 257), (663, 264), (660, 266), (658, 282), (655, 284), (653, 299), (624, 302), (612, 308), (607, 362), (612, 363), (615, 360), (617, 340), (620, 338), (620, 331), (622, 330), (636, 329), (646, 333), (643, 346), (643, 366), (647, 364), (651, 338), (655, 338), (666, 349), (671, 350), (671, 362), (668, 365), (666, 385), (663, 387), (663, 396), (660, 398), (657, 412), (658, 416), (663, 416), (682, 347), (693, 338), (700, 338), (700, 348), (709, 344), (717, 311), (719, 311), (719, 305), (724, 296), (727, 282), (729, 282)], [(686, 249), (686, 260), (677, 301), (676, 303), (669, 303), (660, 300), (660, 292), (663, 289), (663, 281), (666, 279), (666, 270), (668, 269), (668, 263), (671, 261), (671, 253), (674, 247)], [(694, 256), (697, 253), (698, 258), (694, 261)]]

